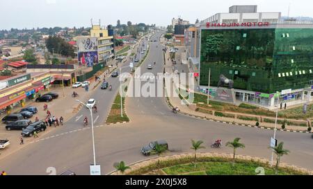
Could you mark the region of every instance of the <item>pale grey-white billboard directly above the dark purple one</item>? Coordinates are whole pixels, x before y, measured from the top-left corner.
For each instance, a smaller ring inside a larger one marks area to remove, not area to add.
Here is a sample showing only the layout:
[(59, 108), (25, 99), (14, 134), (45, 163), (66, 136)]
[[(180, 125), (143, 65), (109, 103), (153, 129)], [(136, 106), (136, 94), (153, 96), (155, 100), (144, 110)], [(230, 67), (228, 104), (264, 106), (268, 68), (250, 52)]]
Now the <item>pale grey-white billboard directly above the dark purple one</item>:
[(97, 37), (78, 37), (77, 38), (77, 52), (91, 52), (97, 51), (98, 42)]

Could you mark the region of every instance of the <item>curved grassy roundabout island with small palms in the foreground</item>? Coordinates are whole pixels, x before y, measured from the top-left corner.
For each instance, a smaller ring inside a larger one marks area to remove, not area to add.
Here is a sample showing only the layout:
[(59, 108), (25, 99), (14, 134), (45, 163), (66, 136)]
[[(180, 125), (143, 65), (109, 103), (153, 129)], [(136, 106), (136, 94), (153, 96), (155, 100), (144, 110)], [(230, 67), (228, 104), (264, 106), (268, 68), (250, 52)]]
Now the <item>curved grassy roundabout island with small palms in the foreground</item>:
[[(167, 161), (160, 161), (160, 168), (170, 175), (189, 174), (189, 175), (256, 175), (256, 168), (264, 168), (264, 174), (273, 175), (275, 169), (271, 168), (268, 163), (259, 161), (247, 161), (236, 159), (235, 166), (232, 166), (232, 159), (223, 157), (198, 157), (195, 165), (193, 156), (184, 157), (181, 159), (170, 159)], [(157, 163), (152, 163), (145, 167), (139, 168), (129, 172), (130, 175), (149, 174), (153, 170), (157, 170)], [(291, 168), (279, 168), (280, 175), (302, 175), (303, 172), (293, 170)]]

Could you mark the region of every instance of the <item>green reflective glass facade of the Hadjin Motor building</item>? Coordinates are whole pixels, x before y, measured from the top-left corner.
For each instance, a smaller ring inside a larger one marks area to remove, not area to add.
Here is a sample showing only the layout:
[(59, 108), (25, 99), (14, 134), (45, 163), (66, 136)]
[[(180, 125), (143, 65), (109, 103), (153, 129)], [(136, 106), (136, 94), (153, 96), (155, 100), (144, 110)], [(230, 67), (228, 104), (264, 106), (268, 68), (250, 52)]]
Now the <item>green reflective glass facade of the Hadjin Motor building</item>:
[(313, 29), (219, 29), (201, 31), (200, 85), (219, 75), (234, 89), (275, 93), (303, 89), (313, 80)]

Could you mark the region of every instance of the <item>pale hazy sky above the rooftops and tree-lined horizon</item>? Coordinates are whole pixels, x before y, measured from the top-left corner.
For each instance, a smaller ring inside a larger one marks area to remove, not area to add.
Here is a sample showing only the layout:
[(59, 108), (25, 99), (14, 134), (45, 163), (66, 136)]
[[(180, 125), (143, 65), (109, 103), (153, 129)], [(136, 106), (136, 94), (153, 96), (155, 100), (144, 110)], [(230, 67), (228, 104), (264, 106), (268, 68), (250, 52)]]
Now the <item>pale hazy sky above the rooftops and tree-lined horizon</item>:
[(257, 5), (258, 12), (282, 12), (290, 17), (313, 17), (310, 0), (1, 0), (0, 29), (42, 27), (88, 27), (131, 21), (168, 26), (173, 17), (195, 23), (233, 5)]

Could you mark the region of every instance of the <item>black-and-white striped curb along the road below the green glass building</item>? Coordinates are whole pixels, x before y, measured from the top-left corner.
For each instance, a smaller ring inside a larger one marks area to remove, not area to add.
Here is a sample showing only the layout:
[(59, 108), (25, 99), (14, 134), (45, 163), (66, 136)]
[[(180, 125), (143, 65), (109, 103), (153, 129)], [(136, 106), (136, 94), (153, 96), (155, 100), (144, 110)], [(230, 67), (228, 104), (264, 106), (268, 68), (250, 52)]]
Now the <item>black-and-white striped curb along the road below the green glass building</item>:
[[(168, 107), (170, 107), (170, 109), (172, 109), (172, 106), (168, 102), (169, 100), (167, 98), (165, 98), (165, 99), (166, 99), (166, 105), (168, 105)], [(246, 124), (242, 124), (242, 123), (222, 121), (222, 120), (217, 120), (217, 119), (214, 119), (214, 118), (195, 116), (193, 114), (188, 114), (188, 113), (186, 113), (184, 111), (179, 111), (178, 113), (183, 114), (185, 116), (193, 117), (193, 118), (199, 118), (199, 119), (202, 119), (202, 120), (209, 120), (209, 121), (214, 121), (214, 122), (217, 122), (217, 123), (226, 123), (228, 125), (237, 125), (237, 126), (239, 125), (239, 126), (245, 126), (245, 127), (254, 127), (254, 128), (258, 128), (258, 129), (271, 129), (271, 130), (274, 130), (273, 127), (254, 126), (254, 125), (246, 125)], [(290, 129), (277, 129), (277, 130), (281, 131), (281, 132), (297, 132), (297, 133), (304, 133), (304, 134), (312, 133), (312, 132), (308, 132), (308, 131), (298, 131), (298, 130), (290, 130)]]

